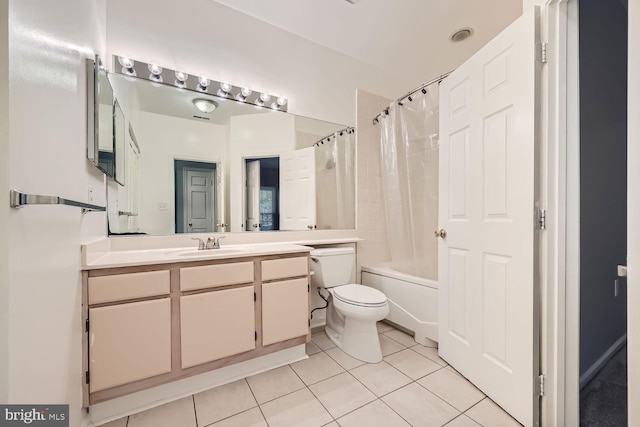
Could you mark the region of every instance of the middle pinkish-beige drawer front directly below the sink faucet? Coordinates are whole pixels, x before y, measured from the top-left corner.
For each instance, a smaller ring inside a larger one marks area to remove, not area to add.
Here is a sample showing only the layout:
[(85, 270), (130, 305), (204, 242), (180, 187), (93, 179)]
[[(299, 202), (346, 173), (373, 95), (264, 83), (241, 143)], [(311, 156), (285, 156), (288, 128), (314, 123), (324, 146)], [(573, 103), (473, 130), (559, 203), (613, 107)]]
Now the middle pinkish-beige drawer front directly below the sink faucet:
[(180, 290), (183, 292), (252, 282), (252, 261), (180, 269)]

